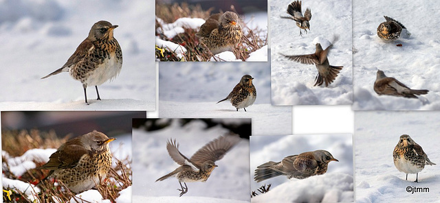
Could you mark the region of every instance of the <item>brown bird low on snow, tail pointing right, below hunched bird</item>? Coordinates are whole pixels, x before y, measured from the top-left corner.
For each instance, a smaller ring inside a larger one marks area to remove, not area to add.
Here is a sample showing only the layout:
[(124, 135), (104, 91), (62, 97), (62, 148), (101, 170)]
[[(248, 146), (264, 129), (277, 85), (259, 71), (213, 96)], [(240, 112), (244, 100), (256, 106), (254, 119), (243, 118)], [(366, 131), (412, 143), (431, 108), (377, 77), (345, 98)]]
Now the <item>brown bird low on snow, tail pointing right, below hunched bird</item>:
[(377, 70), (374, 91), (377, 95), (391, 95), (396, 97), (415, 98), (416, 95), (426, 95), (428, 90), (413, 90), (399, 82), (394, 77), (386, 77), (384, 71)]

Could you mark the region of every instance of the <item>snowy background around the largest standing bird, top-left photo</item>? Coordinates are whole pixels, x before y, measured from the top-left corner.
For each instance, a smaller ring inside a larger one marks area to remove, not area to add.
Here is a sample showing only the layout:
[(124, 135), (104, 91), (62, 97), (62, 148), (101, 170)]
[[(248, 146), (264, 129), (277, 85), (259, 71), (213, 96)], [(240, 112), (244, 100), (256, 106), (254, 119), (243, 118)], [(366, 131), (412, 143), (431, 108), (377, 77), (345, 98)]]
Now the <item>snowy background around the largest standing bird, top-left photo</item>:
[[(124, 61), (120, 75), (87, 88), (69, 73), (40, 78), (65, 64), (94, 23), (114, 30)], [(2, 110), (154, 110), (154, 4), (150, 1), (17, 0), (0, 2)]]

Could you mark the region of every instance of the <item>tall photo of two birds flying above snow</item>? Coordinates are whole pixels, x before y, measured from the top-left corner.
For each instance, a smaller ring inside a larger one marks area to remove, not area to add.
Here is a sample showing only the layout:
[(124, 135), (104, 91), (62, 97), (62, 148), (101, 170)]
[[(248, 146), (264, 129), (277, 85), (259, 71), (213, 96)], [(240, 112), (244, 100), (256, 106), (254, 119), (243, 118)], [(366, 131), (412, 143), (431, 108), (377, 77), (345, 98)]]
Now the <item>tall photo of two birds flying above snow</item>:
[(351, 0), (270, 1), (272, 104), (349, 105)]

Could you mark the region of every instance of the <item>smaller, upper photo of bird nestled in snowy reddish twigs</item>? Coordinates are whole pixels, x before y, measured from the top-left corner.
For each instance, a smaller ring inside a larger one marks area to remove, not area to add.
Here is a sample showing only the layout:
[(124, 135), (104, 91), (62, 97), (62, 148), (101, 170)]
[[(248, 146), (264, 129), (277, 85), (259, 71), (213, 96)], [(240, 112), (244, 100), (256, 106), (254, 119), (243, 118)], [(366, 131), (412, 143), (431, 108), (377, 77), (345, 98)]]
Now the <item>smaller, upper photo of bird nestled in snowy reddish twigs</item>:
[(267, 1), (156, 0), (157, 61), (267, 61)]

